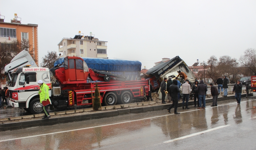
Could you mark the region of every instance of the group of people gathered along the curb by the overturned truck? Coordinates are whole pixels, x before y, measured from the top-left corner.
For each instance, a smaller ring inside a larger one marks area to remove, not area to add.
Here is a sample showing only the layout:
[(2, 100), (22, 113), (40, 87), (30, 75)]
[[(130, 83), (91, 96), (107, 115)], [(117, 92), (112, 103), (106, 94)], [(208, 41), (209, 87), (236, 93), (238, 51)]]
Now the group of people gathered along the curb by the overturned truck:
[[(186, 74), (183, 72), (178, 72), (179, 76), (181, 76), (181, 80), (185, 80), (182, 84), (182, 88), (181, 91), (183, 93), (183, 99), (182, 99), (182, 108), (186, 108), (189, 109), (188, 107), (188, 100), (189, 100), (189, 95), (192, 92), (194, 95), (194, 107), (196, 107), (196, 105), (198, 106), (197, 109), (205, 109), (206, 107), (206, 92), (207, 92), (207, 84), (205, 84), (203, 82), (203, 80), (201, 80), (200, 82), (198, 82), (198, 80), (195, 80), (195, 84), (193, 84), (191, 86), (191, 82), (188, 80), (187, 76), (185, 76)], [(184, 75), (185, 74), (185, 75)], [(175, 114), (179, 114), (177, 112), (177, 107), (178, 107), (178, 101), (180, 100), (180, 87), (181, 87), (181, 83), (180, 81), (178, 81), (178, 77), (175, 77), (175, 80), (171, 80), (172, 78), (169, 77), (168, 81), (167, 78), (164, 78), (164, 80), (161, 82), (160, 85), (160, 91), (162, 94), (162, 103), (165, 104), (166, 102), (164, 101), (165, 97), (166, 97), (166, 91), (168, 91), (168, 100), (170, 102), (170, 100), (172, 100), (173, 104), (171, 104), (171, 106), (167, 109), (168, 112), (170, 112), (170, 109), (174, 107), (174, 113)], [(166, 84), (167, 82), (167, 84)], [(213, 85), (213, 83), (210, 83), (210, 89), (211, 89), (211, 96), (213, 96), (213, 103), (211, 105), (211, 107), (217, 106), (217, 99), (218, 99), (218, 95), (220, 94), (220, 88), (221, 91), (224, 89), (224, 97), (227, 97), (228, 92), (227, 92), (227, 88), (228, 88), (228, 83), (229, 80), (227, 78), (227, 76), (224, 76), (224, 79), (222, 80), (221, 77), (218, 78), (217, 80), (217, 84), (218, 84), (218, 89), (217, 87), (215, 87)], [(235, 98), (237, 100), (237, 104), (240, 104), (241, 102), (241, 94), (242, 94), (242, 83), (240, 82), (240, 80), (237, 80), (237, 83), (234, 85), (233, 88), (233, 93), (235, 92)], [(196, 99), (197, 99), (197, 103), (196, 103)], [(185, 104), (185, 100), (186, 100), (186, 104)], [(184, 107), (185, 105), (185, 107)]]

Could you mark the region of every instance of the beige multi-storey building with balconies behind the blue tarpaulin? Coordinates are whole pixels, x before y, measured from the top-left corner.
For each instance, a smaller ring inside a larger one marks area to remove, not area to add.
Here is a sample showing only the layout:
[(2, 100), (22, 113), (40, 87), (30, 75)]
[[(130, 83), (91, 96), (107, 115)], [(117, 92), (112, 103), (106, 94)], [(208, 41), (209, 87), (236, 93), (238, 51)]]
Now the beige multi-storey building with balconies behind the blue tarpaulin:
[(90, 32), (90, 36), (83, 36), (79, 31), (74, 38), (62, 38), (59, 46), (60, 57), (76, 56), (91, 58), (108, 58), (107, 41), (100, 41)]

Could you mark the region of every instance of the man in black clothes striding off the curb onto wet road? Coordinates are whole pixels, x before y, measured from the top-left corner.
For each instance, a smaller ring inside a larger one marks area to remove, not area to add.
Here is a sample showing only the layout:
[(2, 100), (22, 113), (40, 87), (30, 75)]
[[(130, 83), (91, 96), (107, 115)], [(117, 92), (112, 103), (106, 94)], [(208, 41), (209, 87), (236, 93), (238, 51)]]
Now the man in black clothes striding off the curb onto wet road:
[(167, 111), (169, 113), (171, 108), (174, 107), (174, 114), (180, 114), (177, 112), (177, 108), (178, 108), (178, 93), (180, 93), (180, 89), (177, 86), (178, 82), (177, 80), (173, 81), (173, 84), (169, 87), (169, 93), (171, 95), (171, 100), (173, 101), (173, 104), (171, 104), (171, 106), (167, 109)]

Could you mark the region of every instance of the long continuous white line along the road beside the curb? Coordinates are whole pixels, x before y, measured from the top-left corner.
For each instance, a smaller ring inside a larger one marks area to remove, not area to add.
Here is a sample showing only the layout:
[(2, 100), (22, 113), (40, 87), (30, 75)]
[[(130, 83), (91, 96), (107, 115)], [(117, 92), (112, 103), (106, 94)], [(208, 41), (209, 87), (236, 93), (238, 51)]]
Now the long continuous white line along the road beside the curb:
[[(252, 100), (256, 100), (256, 99), (252, 99)], [(252, 100), (247, 100), (247, 101), (243, 101), (243, 102), (248, 102), (248, 101), (252, 101)], [(241, 103), (243, 103), (243, 102), (241, 102)], [(237, 104), (237, 103), (230, 103), (230, 104), (218, 105), (218, 106), (215, 106), (215, 107), (225, 106), (225, 105), (232, 105), (232, 104)], [(213, 107), (208, 107), (208, 108), (213, 108)], [(208, 109), (208, 108), (206, 108), (206, 109)], [(181, 112), (181, 113), (187, 113), (187, 112), (193, 112), (193, 111), (198, 111), (198, 109), (196, 109), (196, 110), (191, 110), (191, 111), (186, 111), (186, 112)], [(84, 130), (84, 129), (97, 128), (97, 127), (111, 126), (111, 125), (117, 125), (117, 124), (121, 124), (121, 123), (128, 123), (128, 122), (134, 122), (134, 121), (140, 121), (140, 120), (146, 120), (146, 119), (159, 118), (159, 117), (164, 117), (164, 116), (168, 116), (168, 115), (174, 115), (174, 113), (173, 113), (173, 114), (167, 114), (167, 115), (160, 115), (160, 116), (156, 116), (156, 117), (150, 117), (150, 118), (143, 118), (143, 119), (137, 119), (137, 120), (131, 120), (131, 121), (124, 121), (124, 122), (118, 122), (118, 123), (111, 123), (111, 124), (101, 125), (101, 126), (80, 128), (80, 129), (74, 129), (74, 130), (66, 130), (66, 131), (53, 132), (53, 133), (47, 133), (47, 134), (39, 134), (39, 135), (33, 135), (33, 136), (18, 137), (18, 138), (10, 138), (10, 139), (7, 139), (7, 140), (0, 140), (0, 142), (12, 141), (12, 140), (19, 140), (19, 139), (22, 139), (22, 138), (30, 138), (30, 137), (37, 137), (37, 136), (58, 134), (58, 133), (65, 133), (65, 132), (72, 132), (72, 131), (78, 131), (78, 130)]]

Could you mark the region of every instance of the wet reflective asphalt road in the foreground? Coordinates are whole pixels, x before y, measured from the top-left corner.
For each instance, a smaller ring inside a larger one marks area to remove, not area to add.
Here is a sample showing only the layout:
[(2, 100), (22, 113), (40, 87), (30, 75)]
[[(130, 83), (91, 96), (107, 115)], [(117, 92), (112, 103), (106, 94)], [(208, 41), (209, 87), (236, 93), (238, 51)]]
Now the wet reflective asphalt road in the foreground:
[(256, 149), (256, 99), (244, 100), (0, 132), (0, 148)]

